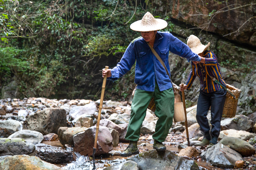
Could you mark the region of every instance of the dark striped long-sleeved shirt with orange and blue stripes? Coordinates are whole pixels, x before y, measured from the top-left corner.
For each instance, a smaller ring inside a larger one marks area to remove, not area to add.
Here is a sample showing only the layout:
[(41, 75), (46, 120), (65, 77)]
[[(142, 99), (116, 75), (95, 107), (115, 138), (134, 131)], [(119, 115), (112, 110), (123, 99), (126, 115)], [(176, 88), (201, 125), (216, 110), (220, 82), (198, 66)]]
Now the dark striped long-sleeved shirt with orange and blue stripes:
[[(216, 84), (212, 81), (212, 79), (209, 77), (215, 77), (223, 86), (226, 86), (225, 81), (223, 80), (219, 63), (216, 55), (212, 51), (204, 51), (203, 57), (205, 58), (205, 64), (198, 63), (194, 64), (191, 61), (191, 72), (187, 79), (187, 90), (190, 89), (190, 87), (193, 84), (194, 79), (196, 76), (199, 77), (201, 90), (203, 90), (206, 93), (214, 92), (219, 89), (222, 89), (222, 86), (219, 84)], [(200, 65), (202, 67), (200, 67)], [(201, 69), (202, 68), (202, 69)]]

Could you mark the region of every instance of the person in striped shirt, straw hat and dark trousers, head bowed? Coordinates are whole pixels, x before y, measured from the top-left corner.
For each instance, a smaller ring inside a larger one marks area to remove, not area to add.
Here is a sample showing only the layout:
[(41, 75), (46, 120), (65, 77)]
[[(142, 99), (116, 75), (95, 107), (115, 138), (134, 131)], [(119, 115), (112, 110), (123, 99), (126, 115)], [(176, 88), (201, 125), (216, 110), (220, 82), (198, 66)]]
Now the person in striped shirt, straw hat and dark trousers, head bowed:
[[(190, 35), (187, 40), (187, 45), (191, 51), (204, 58), (202, 63), (191, 62), (191, 72), (188, 76), (187, 83), (181, 87), (181, 91), (189, 90), (193, 84), (194, 79), (198, 76), (200, 80), (200, 94), (197, 102), (197, 114), (196, 119), (200, 126), (200, 130), (204, 134), (204, 138), (201, 142), (196, 143), (195, 146), (207, 146), (212, 147), (217, 143), (220, 134), (220, 120), (222, 118), (222, 112), (224, 102), (226, 98), (226, 91), (216, 84), (212, 78), (217, 79), (223, 86), (226, 86), (224, 79), (222, 78), (218, 59), (212, 51), (208, 51), (210, 42), (207, 45), (203, 45), (200, 40)], [(212, 78), (211, 78), (212, 77)], [(211, 124), (212, 128), (208, 124), (207, 112), (211, 106)]]

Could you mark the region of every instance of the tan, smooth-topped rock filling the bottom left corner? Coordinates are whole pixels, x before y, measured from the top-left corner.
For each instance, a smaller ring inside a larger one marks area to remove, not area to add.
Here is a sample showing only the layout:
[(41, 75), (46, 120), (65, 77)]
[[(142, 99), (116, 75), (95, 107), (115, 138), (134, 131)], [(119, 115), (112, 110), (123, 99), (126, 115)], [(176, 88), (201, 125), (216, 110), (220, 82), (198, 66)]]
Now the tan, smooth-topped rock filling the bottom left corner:
[(0, 157), (2, 170), (64, 170), (56, 165), (29, 155)]

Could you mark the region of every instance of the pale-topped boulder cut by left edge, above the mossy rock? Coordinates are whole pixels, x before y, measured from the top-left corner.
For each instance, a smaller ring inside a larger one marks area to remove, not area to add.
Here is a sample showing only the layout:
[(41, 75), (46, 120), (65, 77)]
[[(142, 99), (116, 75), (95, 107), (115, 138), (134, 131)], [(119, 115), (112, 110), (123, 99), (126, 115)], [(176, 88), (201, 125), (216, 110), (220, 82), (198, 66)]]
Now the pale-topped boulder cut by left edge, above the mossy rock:
[(22, 123), (17, 120), (0, 120), (0, 137), (8, 137), (11, 134), (21, 130), (23, 127)]

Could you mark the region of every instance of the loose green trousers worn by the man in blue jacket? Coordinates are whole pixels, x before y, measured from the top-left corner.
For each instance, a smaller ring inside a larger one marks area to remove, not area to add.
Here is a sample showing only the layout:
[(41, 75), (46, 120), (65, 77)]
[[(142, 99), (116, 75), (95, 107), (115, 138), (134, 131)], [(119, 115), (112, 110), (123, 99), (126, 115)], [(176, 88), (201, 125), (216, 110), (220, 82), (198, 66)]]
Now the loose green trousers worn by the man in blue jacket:
[(159, 142), (165, 141), (169, 129), (172, 126), (172, 118), (174, 115), (174, 92), (172, 91), (172, 88), (160, 91), (157, 83), (155, 83), (154, 92), (140, 89), (135, 91), (132, 101), (131, 118), (125, 136), (126, 140), (139, 140), (140, 128), (146, 117), (146, 109), (152, 97), (155, 98), (155, 115), (159, 118), (156, 122), (155, 133), (152, 137)]

